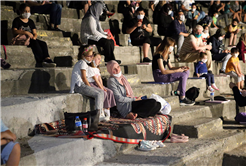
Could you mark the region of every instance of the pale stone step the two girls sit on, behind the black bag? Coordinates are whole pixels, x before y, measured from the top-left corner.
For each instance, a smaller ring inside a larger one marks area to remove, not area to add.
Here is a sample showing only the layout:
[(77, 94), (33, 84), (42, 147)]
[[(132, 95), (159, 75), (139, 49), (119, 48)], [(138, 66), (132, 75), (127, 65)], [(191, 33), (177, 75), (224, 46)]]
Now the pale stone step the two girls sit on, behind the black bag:
[[(177, 109), (174, 105), (177, 97), (167, 96), (164, 99)], [(80, 94), (50, 93), (1, 98), (0, 113), (4, 124), (17, 138), (23, 138), (27, 137), (28, 129), (33, 129), (36, 124), (64, 119), (64, 112), (89, 110), (94, 110), (93, 103)]]

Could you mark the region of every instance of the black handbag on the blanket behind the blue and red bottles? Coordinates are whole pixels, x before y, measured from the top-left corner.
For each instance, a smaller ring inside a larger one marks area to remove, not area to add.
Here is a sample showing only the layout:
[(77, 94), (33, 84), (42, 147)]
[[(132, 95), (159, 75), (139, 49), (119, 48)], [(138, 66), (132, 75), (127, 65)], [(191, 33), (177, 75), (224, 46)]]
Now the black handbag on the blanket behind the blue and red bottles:
[(88, 131), (97, 131), (99, 123), (99, 110), (88, 111), (88, 112), (79, 112), (79, 113), (64, 113), (66, 129), (68, 131), (75, 130), (75, 117), (79, 116), (81, 122), (84, 118), (87, 118), (88, 121)]

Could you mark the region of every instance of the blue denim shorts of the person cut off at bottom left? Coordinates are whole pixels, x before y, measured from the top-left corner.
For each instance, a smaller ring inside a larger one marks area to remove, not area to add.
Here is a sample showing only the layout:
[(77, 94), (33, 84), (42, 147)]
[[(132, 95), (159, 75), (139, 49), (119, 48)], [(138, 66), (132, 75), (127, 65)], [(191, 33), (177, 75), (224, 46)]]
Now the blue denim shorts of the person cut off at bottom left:
[(7, 163), (9, 155), (16, 144), (18, 144), (18, 142), (11, 141), (8, 144), (0, 146), (0, 165)]

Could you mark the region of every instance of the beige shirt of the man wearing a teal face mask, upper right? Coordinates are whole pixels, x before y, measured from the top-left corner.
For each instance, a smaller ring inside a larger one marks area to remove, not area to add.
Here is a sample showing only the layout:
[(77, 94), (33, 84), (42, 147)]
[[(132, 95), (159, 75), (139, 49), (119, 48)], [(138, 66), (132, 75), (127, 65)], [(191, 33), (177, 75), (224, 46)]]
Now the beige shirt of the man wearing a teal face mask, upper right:
[(194, 48), (192, 43), (196, 43), (197, 46), (200, 46), (202, 44), (202, 38), (195, 38), (193, 34), (190, 34), (187, 38), (185, 38), (184, 43), (181, 47), (180, 55), (186, 55), (191, 52), (194, 52)]

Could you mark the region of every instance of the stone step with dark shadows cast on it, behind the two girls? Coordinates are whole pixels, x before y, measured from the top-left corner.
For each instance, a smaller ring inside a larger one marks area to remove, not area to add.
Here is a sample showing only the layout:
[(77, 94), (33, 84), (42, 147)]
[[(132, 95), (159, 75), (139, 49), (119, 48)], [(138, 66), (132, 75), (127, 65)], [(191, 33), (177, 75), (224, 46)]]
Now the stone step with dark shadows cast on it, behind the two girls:
[[(69, 92), (72, 70), (73, 68), (59, 67), (0, 70), (2, 75), (0, 96), (56, 91)], [(104, 67), (105, 70), (106, 67)], [(125, 71), (122, 70), (122, 73)], [(108, 74), (106, 76), (109, 77)], [(139, 85), (141, 82), (136, 74), (126, 74), (125, 76), (132, 86)]]

